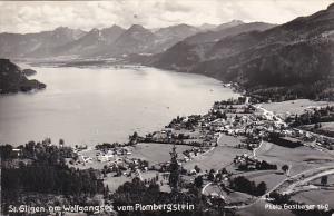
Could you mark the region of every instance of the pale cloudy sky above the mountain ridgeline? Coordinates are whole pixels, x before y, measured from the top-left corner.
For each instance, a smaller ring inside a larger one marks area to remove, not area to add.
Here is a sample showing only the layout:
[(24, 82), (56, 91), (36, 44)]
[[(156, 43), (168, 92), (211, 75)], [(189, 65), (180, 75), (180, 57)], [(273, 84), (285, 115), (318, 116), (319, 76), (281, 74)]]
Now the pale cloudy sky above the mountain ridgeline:
[(39, 32), (57, 27), (90, 30), (118, 24), (161, 28), (230, 20), (284, 23), (325, 9), (334, 0), (111, 0), (0, 1), (0, 32)]

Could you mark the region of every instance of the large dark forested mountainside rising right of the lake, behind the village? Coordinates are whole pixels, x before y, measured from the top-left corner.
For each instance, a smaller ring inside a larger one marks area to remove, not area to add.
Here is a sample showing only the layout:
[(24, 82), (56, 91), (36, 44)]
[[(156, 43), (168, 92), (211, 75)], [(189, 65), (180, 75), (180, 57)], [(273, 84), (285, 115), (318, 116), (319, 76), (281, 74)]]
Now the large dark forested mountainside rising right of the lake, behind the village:
[(264, 100), (334, 99), (333, 8), (215, 42), (186, 39), (146, 62), (236, 81)]

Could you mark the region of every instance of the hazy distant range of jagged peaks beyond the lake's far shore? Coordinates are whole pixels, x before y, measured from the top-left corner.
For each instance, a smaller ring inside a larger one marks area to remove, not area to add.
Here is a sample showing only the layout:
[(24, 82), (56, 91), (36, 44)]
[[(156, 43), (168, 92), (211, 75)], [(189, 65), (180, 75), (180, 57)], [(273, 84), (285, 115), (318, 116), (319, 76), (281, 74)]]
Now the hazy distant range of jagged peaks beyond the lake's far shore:
[[(233, 27), (238, 28), (233, 29)], [(128, 29), (114, 24), (105, 29), (95, 28), (88, 32), (66, 27), (39, 33), (4, 32), (0, 33), (0, 57), (108, 58), (134, 53), (153, 55), (166, 51), (184, 39), (216, 40), (232, 33), (271, 27), (273, 24), (246, 24), (239, 20), (233, 20), (219, 26), (208, 23), (200, 27), (176, 24), (156, 30), (146, 29), (140, 24), (132, 24)]]

